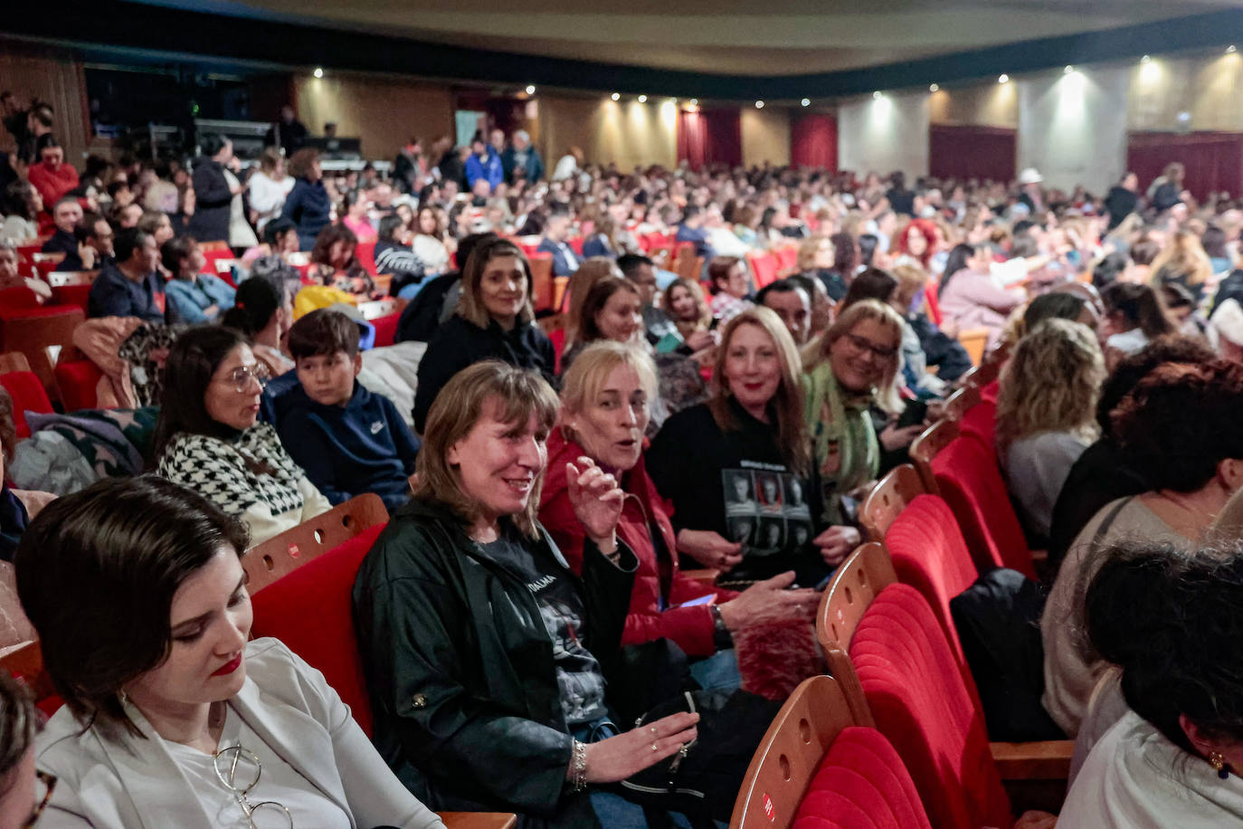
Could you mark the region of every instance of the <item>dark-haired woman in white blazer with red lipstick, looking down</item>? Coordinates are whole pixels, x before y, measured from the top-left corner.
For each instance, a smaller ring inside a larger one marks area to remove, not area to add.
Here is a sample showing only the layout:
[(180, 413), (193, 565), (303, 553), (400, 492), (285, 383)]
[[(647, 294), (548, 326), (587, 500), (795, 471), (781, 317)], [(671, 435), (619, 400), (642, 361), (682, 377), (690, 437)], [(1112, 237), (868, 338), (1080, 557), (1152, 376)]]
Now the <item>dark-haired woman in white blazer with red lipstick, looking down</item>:
[(31, 524), (17, 594), (65, 700), (36, 738), (56, 778), (39, 825), (444, 829), (319, 671), (247, 641), (246, 541), (155, 476), (106, 479)]

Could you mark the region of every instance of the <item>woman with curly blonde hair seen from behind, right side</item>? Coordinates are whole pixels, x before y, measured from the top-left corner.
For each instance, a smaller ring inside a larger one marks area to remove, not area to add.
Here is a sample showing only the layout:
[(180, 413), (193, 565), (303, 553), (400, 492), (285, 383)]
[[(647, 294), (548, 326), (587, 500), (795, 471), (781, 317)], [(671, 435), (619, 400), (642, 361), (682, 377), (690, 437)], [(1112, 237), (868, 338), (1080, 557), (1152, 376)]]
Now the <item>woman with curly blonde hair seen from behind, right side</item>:
[(1035, 326), (1002, 369), (997, 457), (1032, 544), (1047, 543), (1062, 485), (1096, 439), (1104, 382), (1096, 334), (1060, 318)]

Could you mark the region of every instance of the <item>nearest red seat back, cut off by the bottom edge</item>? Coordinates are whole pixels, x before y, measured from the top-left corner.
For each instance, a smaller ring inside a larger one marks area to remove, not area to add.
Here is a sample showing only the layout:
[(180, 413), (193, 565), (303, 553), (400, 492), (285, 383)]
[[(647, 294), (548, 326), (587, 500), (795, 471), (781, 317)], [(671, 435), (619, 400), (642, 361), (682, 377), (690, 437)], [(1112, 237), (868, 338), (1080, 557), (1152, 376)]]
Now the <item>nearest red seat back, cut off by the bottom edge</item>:
[(792, 829), (930, 829), (915, 783), (875, 728), (851, 726), (833, 741)]

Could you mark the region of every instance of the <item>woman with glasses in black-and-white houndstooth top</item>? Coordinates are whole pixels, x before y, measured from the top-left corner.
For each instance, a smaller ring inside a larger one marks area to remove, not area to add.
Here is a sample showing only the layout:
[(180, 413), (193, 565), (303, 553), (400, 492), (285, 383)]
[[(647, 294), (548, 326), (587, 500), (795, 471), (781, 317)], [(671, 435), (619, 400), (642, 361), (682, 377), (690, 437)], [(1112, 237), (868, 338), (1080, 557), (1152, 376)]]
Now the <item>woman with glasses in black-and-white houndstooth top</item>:
[(164, 367), (158, 472), (241, 520), (259, 544), (332, 507), (259, 423), (267, 369), (229, 328), (186, 331)]

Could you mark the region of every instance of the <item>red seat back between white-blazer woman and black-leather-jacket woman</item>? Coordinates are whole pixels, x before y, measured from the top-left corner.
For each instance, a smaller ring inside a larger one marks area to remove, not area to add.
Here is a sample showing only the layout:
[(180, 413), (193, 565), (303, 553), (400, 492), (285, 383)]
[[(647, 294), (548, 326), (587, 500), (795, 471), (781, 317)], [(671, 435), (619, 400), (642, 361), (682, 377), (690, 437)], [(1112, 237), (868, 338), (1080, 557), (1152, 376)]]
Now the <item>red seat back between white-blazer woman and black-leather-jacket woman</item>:
[(368, 527), (255, 593), (255, 636), (275, 636), (319, 670), (372, 733), (372, 705), (354, 638), (354, 577), (387, 524)]

